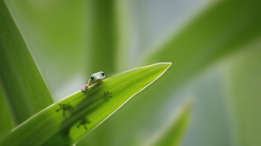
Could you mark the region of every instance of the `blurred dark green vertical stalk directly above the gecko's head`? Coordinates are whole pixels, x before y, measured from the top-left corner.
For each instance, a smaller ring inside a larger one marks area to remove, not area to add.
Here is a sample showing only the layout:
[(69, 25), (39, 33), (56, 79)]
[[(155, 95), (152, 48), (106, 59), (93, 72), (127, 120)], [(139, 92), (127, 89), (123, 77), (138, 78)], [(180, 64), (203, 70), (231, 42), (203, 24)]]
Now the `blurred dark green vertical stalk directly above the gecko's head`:
[[(111, 76), (115, 71), (116, 1), (88, 1), (87, 72), (104, 71)], [(89, 76), (88, 76), (89, 77)]]

